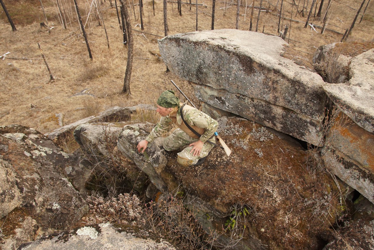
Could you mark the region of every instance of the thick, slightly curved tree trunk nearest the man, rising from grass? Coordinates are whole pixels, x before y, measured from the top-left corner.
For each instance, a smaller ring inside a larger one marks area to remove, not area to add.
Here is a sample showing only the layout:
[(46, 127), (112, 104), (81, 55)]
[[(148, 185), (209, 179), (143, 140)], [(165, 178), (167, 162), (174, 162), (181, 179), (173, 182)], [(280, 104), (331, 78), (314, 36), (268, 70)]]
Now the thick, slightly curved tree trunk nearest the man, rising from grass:
[[(126, 64), (126, 73), (125, 79), (123, 80), (123, 89), (122, 92), (126, 95), (131, 95), (130, 91), (130, 80), (131, 80), (131, 70), (132, 70), (132, 57), (133, 57), (133, 49), (134, 49), (134, 39), (132, 37), (132, 30), (131, 30), (131, 22), (129, 12), (127, 11), (126, 0), (120, 0), (121, 2), (121, 9), (123, 15), (125, 15), (125, 23), (126, 23), (126, 30), (129, 37), (128, 42), (128, 51), (127, 51), (127, 64)], [(125, 24), (122, 24), (125, 25)]]

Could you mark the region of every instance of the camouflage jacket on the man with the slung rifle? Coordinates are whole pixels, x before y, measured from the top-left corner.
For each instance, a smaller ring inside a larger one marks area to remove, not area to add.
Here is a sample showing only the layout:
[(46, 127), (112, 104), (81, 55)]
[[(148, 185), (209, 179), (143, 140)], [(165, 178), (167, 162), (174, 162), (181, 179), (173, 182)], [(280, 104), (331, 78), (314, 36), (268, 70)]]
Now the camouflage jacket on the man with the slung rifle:
[[(188, 123), (193, 129), (196, 131), (202, 131), (200, 140), (205, 143), (209, 138), (212, 137), (214, 132), (218, 128), (218, 122), (215, 121), (210, 116), (206, 115), (202, 111), (199, 111), (197, 109), (194, 109), (191, 106), (186, 105), (183, 109), (183, 118), (184, 121)], [(173, 125), (177, 125), (180, 127), (184, 132), (186, 132), (188, 135), (191, 136), (191, 131), (188, 128), (181, 127), (181, 124), (183, 123), (180, 110), (177, 112), (177, 117), (174, 118), (172, 116), (165, 116), (160, 119), (160, 122), (152, 129), (150, 134), (145, 138), (148, 142), (152, 142), (154, 138), (162, 136), (166, 132), (170, 131), (173, 128)], [(178, 123), (178, 124), (177, 124)], [(187, 130), (187, 131), (186, 131)], [(192, 135), (194, 135), (192, 133)], [(195, 137), (195, 136), (191, 136)], [(198, 138), (196, 136), (196, 138)]]

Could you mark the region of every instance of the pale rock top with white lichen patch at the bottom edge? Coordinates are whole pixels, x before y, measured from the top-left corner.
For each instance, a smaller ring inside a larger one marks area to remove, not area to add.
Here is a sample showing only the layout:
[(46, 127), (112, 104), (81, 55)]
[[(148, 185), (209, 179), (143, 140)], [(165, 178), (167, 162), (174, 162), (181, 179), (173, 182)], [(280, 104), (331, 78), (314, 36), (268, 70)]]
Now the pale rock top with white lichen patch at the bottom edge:
[(40, 240), (19, 247), (19, 250), (25, 249), (175, 250), (167, 241), (141, 228), (109, 223), (87, 225), (46, 235)]

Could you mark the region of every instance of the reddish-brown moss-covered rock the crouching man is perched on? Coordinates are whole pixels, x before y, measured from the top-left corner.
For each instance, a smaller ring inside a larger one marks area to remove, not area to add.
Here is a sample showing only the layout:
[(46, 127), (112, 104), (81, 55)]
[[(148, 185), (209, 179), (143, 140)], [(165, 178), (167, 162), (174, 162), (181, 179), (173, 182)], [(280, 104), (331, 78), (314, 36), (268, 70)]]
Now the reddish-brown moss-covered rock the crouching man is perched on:
[[(339, 207), (332, 179), (306, 170), (301, 164), (306, 154), (290, 138), (281, 139), (281, 134), (243, 119), (224, 118), (219, 123), (220, 135), (233, 153), (227, 157), (215, 147), (198, 166), (178, 165), (176, 152), (160, 148), (162, 138), (138, 153), (136, 145), (151, 127), (125, 126), (117, 147), (159, 190), (182, 187), (206, 231), (219, 229), (233, 211), (246, 208), (246, 236), (236, 249), (318, 249), (319, 233), (334, 223), (326, 218)], [(220, 244), (232, 242), (221, 235)]]

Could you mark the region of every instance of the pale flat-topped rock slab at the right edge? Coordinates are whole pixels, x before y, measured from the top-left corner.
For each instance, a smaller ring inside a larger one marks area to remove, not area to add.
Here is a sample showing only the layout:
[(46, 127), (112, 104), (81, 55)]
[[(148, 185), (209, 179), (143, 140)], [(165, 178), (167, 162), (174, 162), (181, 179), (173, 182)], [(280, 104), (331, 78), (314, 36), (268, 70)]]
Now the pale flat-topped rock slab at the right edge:
[(334, 103), (356, 124), (374, 132), (374, 49), (351, 60), (348, 83), (323, 88)]

